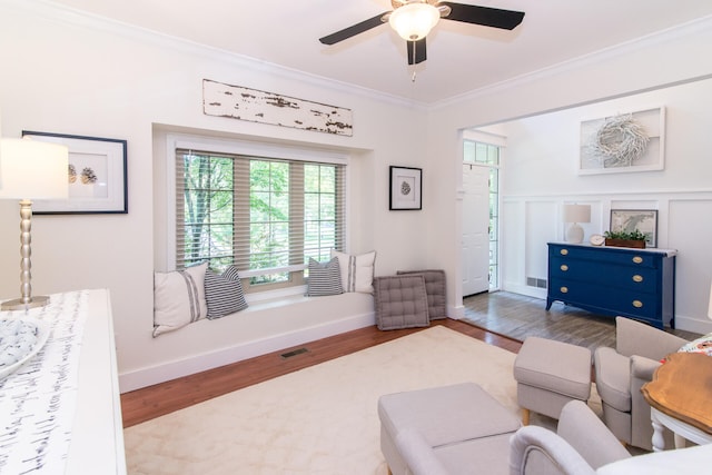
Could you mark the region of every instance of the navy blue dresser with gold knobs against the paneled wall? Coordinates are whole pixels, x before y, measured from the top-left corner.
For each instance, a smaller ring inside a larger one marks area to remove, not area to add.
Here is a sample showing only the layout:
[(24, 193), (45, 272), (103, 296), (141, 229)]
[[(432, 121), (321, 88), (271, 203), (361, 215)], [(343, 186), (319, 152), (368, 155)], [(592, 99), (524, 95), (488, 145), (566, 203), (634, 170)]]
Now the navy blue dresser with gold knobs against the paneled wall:
[(560, 300), (599, 315), (674, 328), (675, 254), (548, 243), (546, 309)]

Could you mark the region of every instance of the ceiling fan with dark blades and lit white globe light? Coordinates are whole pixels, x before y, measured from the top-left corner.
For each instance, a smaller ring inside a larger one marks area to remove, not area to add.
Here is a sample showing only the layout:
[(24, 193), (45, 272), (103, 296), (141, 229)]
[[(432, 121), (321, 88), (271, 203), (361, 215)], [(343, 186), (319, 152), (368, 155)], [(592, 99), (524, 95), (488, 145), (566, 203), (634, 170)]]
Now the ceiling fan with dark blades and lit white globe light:
[(340, 31), (319, 38), (324, 44), (335, 44), (358, 33), (376, 28), (386, 21), (407, 41), (408, 65), (425, 61), (425, 37), (441, 18), (465, 23), (512, 30), (524, 19), (523, 11), (455, 3), (438, 0), (390, 0), (392, 11), (353, 24)]

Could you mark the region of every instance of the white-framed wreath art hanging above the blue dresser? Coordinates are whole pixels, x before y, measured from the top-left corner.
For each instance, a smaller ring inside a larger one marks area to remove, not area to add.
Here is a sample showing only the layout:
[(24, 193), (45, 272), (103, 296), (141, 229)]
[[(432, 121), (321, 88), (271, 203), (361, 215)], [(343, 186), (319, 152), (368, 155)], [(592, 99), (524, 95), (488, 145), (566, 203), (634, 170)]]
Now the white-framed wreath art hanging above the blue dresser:
[(584, 120), (578, 175), (662, 170), (664, 132), (663, 107)]

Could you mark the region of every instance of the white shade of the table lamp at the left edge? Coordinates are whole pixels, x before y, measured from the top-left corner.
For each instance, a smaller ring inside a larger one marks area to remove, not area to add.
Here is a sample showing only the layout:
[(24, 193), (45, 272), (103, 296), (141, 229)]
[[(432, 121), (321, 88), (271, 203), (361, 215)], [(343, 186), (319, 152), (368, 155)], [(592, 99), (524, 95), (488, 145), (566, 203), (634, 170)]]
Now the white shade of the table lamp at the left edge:
[(31, 139), (0, 139), (0, 199), (67, 199), (69, 149)]

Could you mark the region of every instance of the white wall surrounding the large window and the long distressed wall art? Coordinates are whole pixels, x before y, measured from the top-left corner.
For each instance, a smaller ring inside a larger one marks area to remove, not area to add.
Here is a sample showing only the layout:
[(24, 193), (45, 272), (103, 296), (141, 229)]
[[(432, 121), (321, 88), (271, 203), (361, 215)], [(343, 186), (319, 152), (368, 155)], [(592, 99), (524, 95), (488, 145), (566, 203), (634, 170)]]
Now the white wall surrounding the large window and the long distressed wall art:
[[(162, 253), (155, 236), (165, 224), (162, 209), (154, 206), (158, 129), (209, 130), (350, 154), (349, 250), (376, 249), (378, 275), (426, 264), (421, 222), (436, 210), (388, 211), (388, 166), (425, 165), (423, 110), (42, 2), (2, 0), (0, 9), (2, 136), (19, 137), (27, 129), (128, 140), (128, 215), (36, 216), (32, 228), (36, 294), (109, 288), (122, 376), (157, 374), (162, 365), (250, 343), (239, 329), (218, 326), (195, 338), (189, 327), (178, 336), (151, 338), (152, 273)], [(205, 116), (204, 78), (350, 108), (354, 136)], [(19, 293), (18, 205), (0, 202), (0, 296), (10, 298)], [(278, 325), (265, 331), (289, 344)]]

